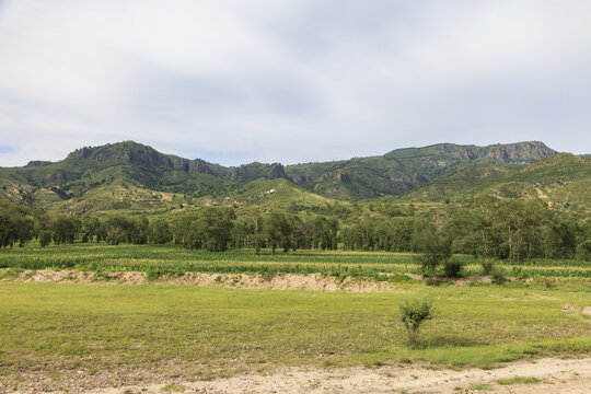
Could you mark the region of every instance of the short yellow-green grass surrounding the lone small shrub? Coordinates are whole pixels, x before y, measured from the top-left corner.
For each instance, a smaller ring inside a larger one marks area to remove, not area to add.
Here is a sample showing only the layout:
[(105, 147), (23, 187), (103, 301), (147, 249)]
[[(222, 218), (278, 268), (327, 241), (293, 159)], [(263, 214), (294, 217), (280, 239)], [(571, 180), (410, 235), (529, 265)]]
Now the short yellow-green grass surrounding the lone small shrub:
[[(589, 323), (561, 311), (589, 305), (589, 291), (399, 286), (406, 293), (0, 282), (0, 383), (20, 371), (211, 379), (304, 364), (489, 368), (591, 351)], [(440, 313), (409, 345), (397, 306), (426, 296)]]

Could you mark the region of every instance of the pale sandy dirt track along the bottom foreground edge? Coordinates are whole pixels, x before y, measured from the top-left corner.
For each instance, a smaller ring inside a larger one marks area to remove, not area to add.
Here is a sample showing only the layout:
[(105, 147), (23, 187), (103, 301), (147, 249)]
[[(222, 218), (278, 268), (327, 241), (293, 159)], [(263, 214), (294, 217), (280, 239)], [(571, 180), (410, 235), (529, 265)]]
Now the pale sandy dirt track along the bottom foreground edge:
[[(536, 378), (536, 383), (501, 385), (498, 379)], [(483, 387), (484, 386), (484, 387)], [(484, 390), (483, 390), (484, 389)], [(267, 375), (208, 382), (167, 382), (93, 390), (92, 394), (131, 393), (591, 393), (591, 358), (519, 361), (494, 370), (431, 370), (414, 366), (379, 368), (289, 368)], [(57, 392), (55, 392), (57, 393)]]

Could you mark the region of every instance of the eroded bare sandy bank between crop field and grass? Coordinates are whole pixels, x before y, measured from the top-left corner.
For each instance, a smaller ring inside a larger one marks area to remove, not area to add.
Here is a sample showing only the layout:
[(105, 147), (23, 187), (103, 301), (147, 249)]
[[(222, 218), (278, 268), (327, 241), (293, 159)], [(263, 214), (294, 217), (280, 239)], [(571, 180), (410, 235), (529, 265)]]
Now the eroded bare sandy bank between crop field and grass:
[[(10, 268), (0, 269), (0, 274)], [(421, 280), (418, 275), (406, 274), (412, 279)], [(404, 292), (398, 283), (389, 281), (375, 281), (367, 278), (347, 277), (344, 280), (322, 274), (277, 274), (265, 277), (258, 274), (202, 274), (186, 273), (182, 276), (169, 276), (158, 281), (149, 281), (146, 273), (92, 273), (79, 270), (23, 270), (14, 278), (4, 278), (0, 281), (24, 282), (70, 282), (70, 283), (123, 283), (123, 285), (189, 285), (189, 286), (217, 286), (225, 288), (243, 289), (273, 289), (273, 290), (310, 290), (310, 291), (347, 291), (355, 293), (364, 292)], [(456, 279), (456, 285), (465, 285), (468, 281), (489, 282), (490, 278), (473, 276)]]

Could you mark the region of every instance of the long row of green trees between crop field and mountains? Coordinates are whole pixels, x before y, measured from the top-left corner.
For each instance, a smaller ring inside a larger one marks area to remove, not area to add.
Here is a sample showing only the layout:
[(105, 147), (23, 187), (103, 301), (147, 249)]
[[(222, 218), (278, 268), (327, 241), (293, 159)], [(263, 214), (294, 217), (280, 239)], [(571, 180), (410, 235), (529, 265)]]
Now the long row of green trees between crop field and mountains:
[[(368, 212), (368, 213), (371, 213)], [(176, 218), (146, 216), (50, 216), (43, 209), (0, 201), (0, 246), (23, 246), (34, 237), (54, 242), (116, 245), (175, 242), (186, 248), (223, 252), (229, 247), (417, 252), (441, 250), (519, 262), (533, 257), (591, 259), (591, 221), (549, 209), (542, 200), (483, 197), (453, 206), (444, 215), (379, 217), (355, 223), (336, 217), (283, 211), (236, 218), (235, 209), (205, 207)]]

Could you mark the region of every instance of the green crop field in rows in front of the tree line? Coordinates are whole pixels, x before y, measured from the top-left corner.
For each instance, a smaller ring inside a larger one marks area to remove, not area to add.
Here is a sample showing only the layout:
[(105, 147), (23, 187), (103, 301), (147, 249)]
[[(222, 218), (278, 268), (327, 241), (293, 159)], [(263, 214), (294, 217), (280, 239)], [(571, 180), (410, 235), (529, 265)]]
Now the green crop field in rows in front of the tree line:
[[(472, 256), (454, 256), (465, 263), (465, 275), (480, 275), (480, 262)], [(505, 266), (514, 277), (591, 278), (589, 262), (577, 259), (532, 259)], [(333, 276), (376, 276), (419, 274), (417, 255), (409, 253), (298, 251), (273, 255), (269, 250), (231, 250), (225, 253), (189, 251), (179, 245), (68, 244), (45, 248), (28, 246), (0, 250), (0, 268), (81, 269), (146, 271), (152, 275), (183, 273), (312, 274)]]

